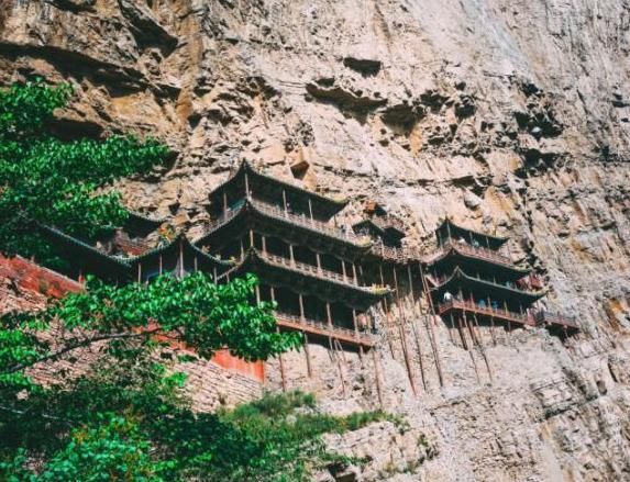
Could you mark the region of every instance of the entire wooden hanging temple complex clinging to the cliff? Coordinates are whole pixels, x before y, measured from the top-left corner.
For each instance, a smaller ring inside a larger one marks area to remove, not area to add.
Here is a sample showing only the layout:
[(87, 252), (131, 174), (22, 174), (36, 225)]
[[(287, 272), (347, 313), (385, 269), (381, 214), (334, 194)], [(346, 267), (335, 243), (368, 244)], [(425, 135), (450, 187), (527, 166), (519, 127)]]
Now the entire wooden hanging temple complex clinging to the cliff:
[[(97, 244), (51, 227), (44, 235), (67, 260), (65, 274), (113, 283), (147, 282), (162, 273), (203, 271), (214, 282), (245, 272), (259, 278), (258, 301), (277, 303), (279, 329), (308, 343), (363, 354), (390, 325), (402, 295), (424, 299), (463, 345), (482, 326), (542, 326), (567, 337), (575, 318), (545, 309), (542, 280), (505, 254), (507, 237), (468, 229), (446, 217), (429, 255), (402, 246), (405, 225), (376, 203), (350, 228), (335, 215), (347, 204), (270, 177), (243, 161), (209, 194), (211, 221), (190, 240), (165, 220), (132, 213), (124, 229)], [(157, 247), (146, 238), (154, 235)], [(156, 236), (155, 236), (156, 235)], [(472, 336), (474, 341), (475, 337)]]

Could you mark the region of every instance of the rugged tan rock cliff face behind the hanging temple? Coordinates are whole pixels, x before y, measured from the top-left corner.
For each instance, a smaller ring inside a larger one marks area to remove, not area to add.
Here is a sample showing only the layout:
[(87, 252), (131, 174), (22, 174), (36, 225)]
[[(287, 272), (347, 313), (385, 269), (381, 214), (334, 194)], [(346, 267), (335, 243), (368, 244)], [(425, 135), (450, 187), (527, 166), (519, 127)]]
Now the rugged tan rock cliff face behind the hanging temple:
[[(482, 328), (484, 352), (468, 352), (439, 323), (440, 389), (418, 315), (419, 396), (400, 340), (384, 340), (385, 405), (434, 449), (419, 458), (378, 430), (331, 441), (373, 456), (362, 477), (630, 480), (626, 0), (7, 0), (0, 31), (2, 83), (77, 85), (62, 135), (172, 146), (167, 171), (119, 186), (133, 208), (198, 233), (208, 189), (246, 157), (355, 199), (349, 218), (380, 201), (412, 245), (444, 214), (509, 234), (548, 277), (551, 307), (583, 326), (573, 340), (516, 330), (495, 345)], [(313, 351), (314, 380), (288, 363), (290, 385), (334, 411), (374, 404), (373, 368), (349, 356), (340, 377)]]

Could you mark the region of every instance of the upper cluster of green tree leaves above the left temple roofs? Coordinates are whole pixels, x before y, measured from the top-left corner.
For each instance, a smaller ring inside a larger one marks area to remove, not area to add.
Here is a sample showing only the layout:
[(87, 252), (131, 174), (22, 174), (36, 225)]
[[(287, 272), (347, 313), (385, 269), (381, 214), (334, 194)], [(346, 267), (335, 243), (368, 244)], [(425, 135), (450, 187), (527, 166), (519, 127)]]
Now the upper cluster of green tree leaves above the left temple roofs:
[(54, 225), (86, 238), (121, 226), (128, 211), (114, 180), (147, 172), (167, 149), (154, 139), (111, 136), (62, 141), (51, 130), (56, 109), (73, 94), (68, 85), (42, 81), (0, 90), (0, 251), (53, 255), (33, 226)]

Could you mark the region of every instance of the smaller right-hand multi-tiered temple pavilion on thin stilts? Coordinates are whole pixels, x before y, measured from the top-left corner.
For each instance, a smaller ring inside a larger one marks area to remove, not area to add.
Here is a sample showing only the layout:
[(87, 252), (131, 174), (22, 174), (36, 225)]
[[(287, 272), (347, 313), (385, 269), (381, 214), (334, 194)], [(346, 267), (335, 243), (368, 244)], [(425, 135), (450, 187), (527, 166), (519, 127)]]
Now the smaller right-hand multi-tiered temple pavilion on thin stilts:
[[(508, 238), (479, 233), (445, 218), (435, 231), (438, 251), (425, 261), (425, 279), (436, 313), (452, 326), (495, 322), (577, 329), (566, 316), (530, 307), (546, 294), (531, 270), (501, 253)], [(540, 313), (543, 313), (542, 315)]]

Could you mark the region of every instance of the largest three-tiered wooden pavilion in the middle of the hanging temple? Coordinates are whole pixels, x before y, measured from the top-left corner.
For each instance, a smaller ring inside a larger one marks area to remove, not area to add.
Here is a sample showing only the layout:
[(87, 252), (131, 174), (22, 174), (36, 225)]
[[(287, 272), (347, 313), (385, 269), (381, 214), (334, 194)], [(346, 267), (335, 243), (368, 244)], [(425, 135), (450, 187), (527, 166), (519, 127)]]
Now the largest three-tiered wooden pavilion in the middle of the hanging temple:
[(368, 284), (366, 237), (335, 226), (346, 202), (280, 181), (242, 162), (209, 194), (211, 222), (195, 242), (236, 266), (224, 278), (254, 272), (257, 298), (277, 303), (283, 328), (311, 340), (371, 348), (369, 310), (389, 290)]

